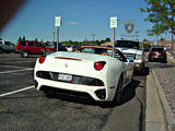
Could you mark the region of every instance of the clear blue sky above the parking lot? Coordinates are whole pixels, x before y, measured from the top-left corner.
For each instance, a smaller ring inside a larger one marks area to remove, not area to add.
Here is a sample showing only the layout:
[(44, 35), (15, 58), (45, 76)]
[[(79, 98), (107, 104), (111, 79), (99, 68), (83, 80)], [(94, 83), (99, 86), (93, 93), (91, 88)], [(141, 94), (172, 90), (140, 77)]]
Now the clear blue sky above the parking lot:
[[(28, 0), (19, 13), (7, 24), (0, 33), (4, 40), (18, 41), (19, 36), (25, 35), (26, 39), (52, 40), (55, 16), (62, 17), (60, 26), (60, 40), (92, 40), (113, 39), (113, 29), (109, 28), (109, 17), (118, 17), (116, 38), (127, 35), (125, 22), (132, 21), (135, 32), (139, 32), (139, 39), (156, 40), (149, 37), (147, 29), (151, 23), (144, 22), (145, 13), (140, 12), (140, 7), (145, 8), (144, 0)], [(171, 35), (162, 35), (171, 37)], [(131, 38), (131, 37), (130, 37)]]

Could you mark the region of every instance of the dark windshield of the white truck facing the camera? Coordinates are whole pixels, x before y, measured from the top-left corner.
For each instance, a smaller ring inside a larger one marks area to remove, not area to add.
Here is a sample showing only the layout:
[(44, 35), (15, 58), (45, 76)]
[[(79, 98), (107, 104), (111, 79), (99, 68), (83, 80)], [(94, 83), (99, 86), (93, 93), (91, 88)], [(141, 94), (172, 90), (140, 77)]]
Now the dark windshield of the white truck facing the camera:
[(142, 49), (141, 43), (131, 40), (116, 40), (115, 47)]

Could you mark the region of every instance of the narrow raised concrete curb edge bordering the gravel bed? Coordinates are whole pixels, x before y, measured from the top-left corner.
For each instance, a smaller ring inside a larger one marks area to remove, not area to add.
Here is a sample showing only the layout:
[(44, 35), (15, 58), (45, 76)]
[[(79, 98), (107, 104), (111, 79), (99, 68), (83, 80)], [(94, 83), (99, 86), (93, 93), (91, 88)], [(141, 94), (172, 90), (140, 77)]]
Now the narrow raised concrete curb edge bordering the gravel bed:
[[(155, 82), (154, 84), (155, 84), (155, 88), (156, 88), (156, 93), (158, 93), (158, 100), (160, 102), (160, 108), (162, 110), (161, 117), (164, 119), (164, 121), (163, 121), (164, 128), (162, 129), (162, 131), (174, 131), (174, 129), (175, 129), (175, 119), (173, 117), (174, 115), (173, 115), (172, 109), (171, 109), (171, 107), (170, 107), (170, 105), (168, 105), (168, 103), (166, 100), (165, 95), (164, 95), (164, 91), (163, 91), (162, 86), (159, 83), (159, 80), (156, 78), (155, 71), (151, 70), (150, 73), (153, 76), (153, 80)], [(147, 131), (151, 131), (151, 130), (147, 130)]]

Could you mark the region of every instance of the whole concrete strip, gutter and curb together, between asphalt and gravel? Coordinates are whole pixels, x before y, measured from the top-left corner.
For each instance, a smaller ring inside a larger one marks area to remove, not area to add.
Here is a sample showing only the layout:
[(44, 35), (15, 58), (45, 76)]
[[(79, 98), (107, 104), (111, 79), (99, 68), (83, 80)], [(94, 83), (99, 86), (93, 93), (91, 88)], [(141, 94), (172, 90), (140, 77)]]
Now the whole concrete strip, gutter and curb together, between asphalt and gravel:
[[(174, 63), (173, 57), (167, 60)], [(147, 78), (145, 131), (175, 131), (173, 111), (154, 70)]]

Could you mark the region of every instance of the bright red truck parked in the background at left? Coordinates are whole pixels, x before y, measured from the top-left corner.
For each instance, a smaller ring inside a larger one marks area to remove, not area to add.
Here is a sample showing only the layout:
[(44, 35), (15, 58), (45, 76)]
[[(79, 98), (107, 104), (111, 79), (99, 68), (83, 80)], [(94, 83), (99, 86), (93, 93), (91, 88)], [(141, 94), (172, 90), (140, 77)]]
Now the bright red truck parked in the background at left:
[(44, 55), (47, 51), (56, 51), (55, 47), (47, 48), (38, 41), (18, 41), (16, 51), (21, 52), (21, 57), (28, 57), (28, 55)]

